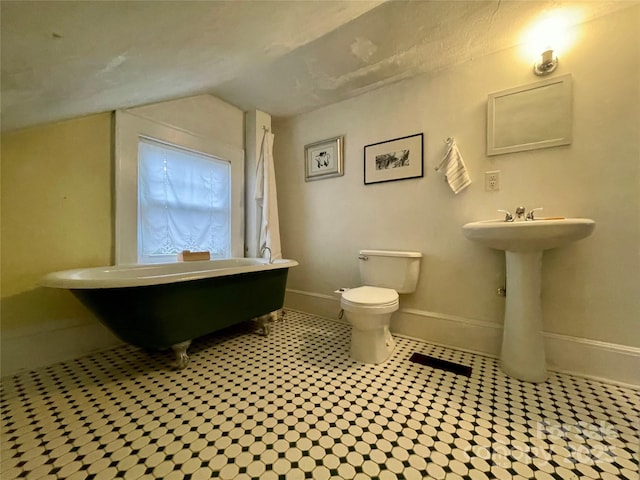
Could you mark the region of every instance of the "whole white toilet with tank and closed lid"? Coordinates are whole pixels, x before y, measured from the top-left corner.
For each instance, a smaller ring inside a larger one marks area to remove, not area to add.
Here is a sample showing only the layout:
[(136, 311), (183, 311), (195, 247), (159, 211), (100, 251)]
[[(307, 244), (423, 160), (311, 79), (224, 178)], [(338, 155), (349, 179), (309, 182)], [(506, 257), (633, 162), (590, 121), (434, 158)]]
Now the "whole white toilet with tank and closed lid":
[(351, 357), (365, 363), (386, 361), (395, 342), (389, 332), (399, 293), (413, 293), (420, 273), (420, 252), (360, 250), (364, 286), (342, 293), (340, 306), (351, 324)]

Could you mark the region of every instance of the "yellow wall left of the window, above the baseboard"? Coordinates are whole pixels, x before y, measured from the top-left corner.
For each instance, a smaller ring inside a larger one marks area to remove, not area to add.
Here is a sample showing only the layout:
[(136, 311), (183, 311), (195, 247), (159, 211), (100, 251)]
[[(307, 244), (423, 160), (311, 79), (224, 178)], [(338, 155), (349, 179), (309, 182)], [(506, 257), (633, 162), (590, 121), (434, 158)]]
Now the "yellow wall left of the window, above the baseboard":
[(2, 135), (3, 335), (93, 319), (67, 291), (37, 283), (112, 263), (111, 144), (110, 113)]

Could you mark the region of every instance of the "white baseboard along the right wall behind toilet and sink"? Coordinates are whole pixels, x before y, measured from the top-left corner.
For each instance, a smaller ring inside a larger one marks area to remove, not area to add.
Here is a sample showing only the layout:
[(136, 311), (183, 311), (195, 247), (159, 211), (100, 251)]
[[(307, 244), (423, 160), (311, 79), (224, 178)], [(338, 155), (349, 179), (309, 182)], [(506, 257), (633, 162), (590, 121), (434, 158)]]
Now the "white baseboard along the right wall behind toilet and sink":
[[(285, 307), (337, 320), (340, 299), (301, 290), (287, 290)], [(483, 355), (498, 356), (502, 324), (413, 308), (400, 308), (392, 332), (430, 343)], [(585, 338), (544, 333), (549, 370), (640, 387), (640, 348)]]

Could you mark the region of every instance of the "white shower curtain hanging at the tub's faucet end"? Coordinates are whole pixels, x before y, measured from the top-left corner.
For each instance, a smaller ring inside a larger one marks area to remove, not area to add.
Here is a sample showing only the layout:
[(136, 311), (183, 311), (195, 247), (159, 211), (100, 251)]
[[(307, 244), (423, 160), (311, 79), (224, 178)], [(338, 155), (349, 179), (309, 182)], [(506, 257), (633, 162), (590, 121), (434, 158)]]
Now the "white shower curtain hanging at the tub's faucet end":
[(262, 147), (256, 168), (255, 199), (260, 218), (258, 229), (258, 254), (264, 247), (271, 250), (271, 259), (282, 258), (280, 247), (280, 223), (278, 221), (278, 196), (276, 175), (273, 165), (273, 139), (275, 135), (267, 129), (262, 137)]

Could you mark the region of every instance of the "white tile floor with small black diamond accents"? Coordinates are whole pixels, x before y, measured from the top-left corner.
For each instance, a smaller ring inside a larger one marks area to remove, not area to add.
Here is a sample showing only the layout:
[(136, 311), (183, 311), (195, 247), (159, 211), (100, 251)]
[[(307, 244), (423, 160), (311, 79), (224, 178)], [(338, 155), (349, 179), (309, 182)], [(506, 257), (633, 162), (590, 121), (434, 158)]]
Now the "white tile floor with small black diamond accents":
[(268, 337), (195, 341), (184, 371), (121, 346), (5, 378), (1, 477), (638, 479), (637, 391), (556, 374), (528, 384), (406, 338), (364, 365), (349, 335), (287, 312)]

